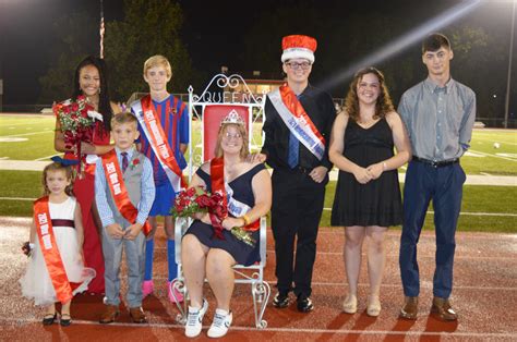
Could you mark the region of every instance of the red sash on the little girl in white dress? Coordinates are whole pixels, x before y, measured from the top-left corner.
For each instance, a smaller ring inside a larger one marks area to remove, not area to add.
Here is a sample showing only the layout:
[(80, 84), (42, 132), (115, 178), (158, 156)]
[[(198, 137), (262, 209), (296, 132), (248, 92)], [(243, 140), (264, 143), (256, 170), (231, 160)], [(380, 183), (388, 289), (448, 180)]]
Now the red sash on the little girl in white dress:
[(34, 201), (34, 224), (41, 247), (41, 254), (47, 265), (48, 274), (52, 281), (56, 297), (61, 303), (72, 300), (72, 285), (67, 277), (63, 260), (59, 254), (58, 244), (53, 234), (48, 196)]

